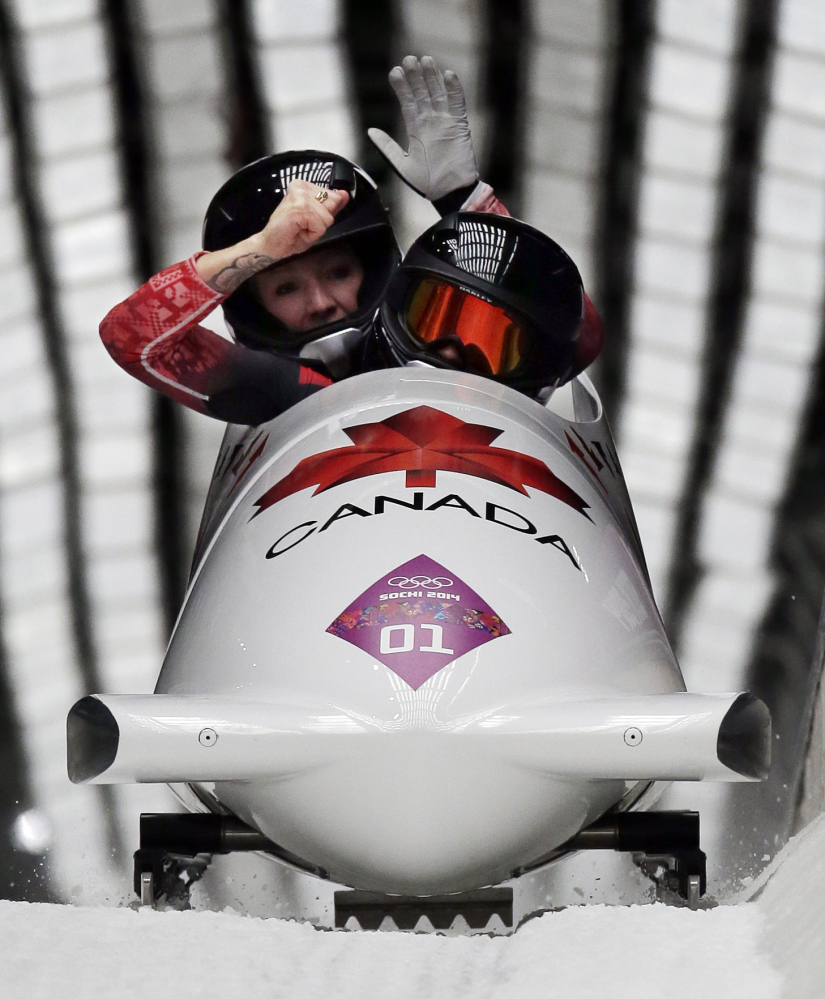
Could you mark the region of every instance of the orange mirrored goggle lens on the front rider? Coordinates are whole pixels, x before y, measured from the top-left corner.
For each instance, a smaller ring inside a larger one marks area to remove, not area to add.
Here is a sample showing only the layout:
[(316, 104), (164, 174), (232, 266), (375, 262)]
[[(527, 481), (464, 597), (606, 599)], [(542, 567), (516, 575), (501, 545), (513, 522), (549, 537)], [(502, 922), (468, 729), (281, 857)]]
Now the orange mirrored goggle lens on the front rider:
[(527, 350), (523, 326), (504, 309), (443, 281), (423, 280), (410, 297), (404, 318), (407, 331), (421, 343), (457, 336), (474, 369), (485, 374), (510, 374)]

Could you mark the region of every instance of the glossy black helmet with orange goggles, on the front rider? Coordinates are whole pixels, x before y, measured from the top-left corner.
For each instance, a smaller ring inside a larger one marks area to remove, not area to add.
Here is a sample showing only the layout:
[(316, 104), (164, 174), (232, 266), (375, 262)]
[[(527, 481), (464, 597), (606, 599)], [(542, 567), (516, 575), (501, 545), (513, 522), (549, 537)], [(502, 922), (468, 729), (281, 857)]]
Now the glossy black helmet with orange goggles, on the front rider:
[(376, 337), (390, 363), (475, 371), (536, 395), (576, 373), (585, 312), (579, 271), (557, 243), (518, 219), (460, 212), (412, 245)]

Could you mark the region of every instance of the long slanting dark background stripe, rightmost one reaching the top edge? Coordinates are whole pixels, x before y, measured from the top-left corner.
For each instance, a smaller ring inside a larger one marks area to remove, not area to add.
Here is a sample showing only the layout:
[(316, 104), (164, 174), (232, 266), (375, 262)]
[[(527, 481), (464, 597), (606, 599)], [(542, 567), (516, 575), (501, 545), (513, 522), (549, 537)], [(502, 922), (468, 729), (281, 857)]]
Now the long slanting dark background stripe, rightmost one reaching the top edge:
[(711, 259), (708, 334), (694, 444), (679, 504), (665, 623), (678, 648), (685, 613), (701, 578), (697, 539), (750, 295), (759, 153), (769, 102), (777, 0), (748, 0), (733, 67), (726, 166)]

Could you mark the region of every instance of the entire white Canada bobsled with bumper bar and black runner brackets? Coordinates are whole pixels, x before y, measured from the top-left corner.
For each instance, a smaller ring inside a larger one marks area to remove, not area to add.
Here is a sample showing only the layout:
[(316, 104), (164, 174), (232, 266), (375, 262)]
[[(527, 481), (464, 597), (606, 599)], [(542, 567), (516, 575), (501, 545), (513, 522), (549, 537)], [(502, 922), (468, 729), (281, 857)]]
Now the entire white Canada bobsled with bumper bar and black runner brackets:
[[(83, 698), (75, 783), (189, 785), (164, 858), (263, 850), (371, 897), (458, 897), (565, 852), (675, 858), (668, 781), (767, 775), (747, 693), (687, 692), (616, 450), (580, 375), (548, 405), (408, 367), (229, 427), (155, 693)], [(474, 896), (475, 897), (475, 896)]]

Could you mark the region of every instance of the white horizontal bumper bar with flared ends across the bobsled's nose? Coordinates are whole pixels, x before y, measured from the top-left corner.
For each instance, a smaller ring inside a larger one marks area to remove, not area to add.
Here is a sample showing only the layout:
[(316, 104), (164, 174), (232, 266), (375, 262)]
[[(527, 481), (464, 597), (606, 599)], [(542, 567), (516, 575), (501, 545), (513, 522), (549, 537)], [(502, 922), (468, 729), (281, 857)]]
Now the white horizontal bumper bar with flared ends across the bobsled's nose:
[[(218, 698), (84, 697), (67, 722), (75, 784), (282, 777), (410, 740), (589, 780), (763, 780), (768, 709), (750, 694), (654, 694), (514, 707), (439, 730)], [(461, 751), (464, 751), (462, 749)]]

